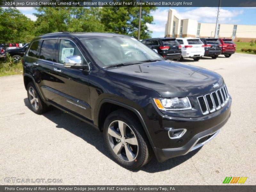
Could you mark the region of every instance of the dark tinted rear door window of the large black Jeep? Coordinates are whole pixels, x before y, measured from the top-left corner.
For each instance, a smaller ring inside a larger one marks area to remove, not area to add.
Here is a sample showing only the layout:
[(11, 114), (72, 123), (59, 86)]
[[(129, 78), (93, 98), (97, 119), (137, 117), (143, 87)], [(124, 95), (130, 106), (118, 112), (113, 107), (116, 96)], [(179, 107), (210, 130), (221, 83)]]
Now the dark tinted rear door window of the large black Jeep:
[(56, 62), (55, 55), (57, 47), (57, 39), (44, 40), (41, 46), (40, 59)]

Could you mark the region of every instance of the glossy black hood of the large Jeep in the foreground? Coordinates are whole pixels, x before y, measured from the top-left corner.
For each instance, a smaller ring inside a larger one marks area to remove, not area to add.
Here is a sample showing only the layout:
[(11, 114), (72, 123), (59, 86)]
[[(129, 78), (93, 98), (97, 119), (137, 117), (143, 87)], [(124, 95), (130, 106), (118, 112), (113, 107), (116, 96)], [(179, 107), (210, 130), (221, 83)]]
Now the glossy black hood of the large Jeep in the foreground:
[(137, 84), (158, 92), (162, 97), (186, 97), (210, 92), (223, 78), (213, 71), (171, 61), (156, 61), (119, 68), (107, 74), (120, 81)]

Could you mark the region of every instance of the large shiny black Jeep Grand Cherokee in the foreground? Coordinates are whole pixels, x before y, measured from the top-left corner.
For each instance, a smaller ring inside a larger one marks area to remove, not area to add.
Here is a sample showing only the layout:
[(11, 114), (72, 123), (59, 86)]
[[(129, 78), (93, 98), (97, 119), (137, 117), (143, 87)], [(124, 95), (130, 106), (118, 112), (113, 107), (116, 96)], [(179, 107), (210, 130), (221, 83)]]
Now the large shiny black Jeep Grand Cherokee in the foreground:
[(203, 146), (230, 116), (219, 74), (165, 60), (129, 36), (45, 34), (29, 45), (23, 69), (35, 113), (52, 105), (91, 124), (129, 169)]

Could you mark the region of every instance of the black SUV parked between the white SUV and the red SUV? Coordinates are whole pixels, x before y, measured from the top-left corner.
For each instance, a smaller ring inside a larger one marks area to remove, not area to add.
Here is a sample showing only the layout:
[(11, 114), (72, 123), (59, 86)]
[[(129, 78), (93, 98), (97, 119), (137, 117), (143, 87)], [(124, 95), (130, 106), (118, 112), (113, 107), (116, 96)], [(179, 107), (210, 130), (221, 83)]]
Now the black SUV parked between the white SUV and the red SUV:
[(204, 43), (204, 56), (216, 59), (221, 54), (221, 43), (217, 38), (200, 38)]

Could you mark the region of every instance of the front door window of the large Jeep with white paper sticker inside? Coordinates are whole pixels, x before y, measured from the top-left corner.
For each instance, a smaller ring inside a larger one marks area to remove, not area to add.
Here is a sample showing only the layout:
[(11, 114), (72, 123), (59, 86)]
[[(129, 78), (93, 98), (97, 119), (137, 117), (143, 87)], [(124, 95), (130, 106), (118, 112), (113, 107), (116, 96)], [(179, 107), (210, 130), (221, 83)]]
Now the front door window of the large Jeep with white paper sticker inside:
[(87, 65), (84, 56), (72, 41), (61, 39), (60, 40), (60, 50), (59, 50), (59, 63), (64, 64), (64, 60), (69, 56), (80, 56), (82, 59), (82, 65)]

